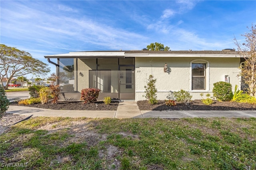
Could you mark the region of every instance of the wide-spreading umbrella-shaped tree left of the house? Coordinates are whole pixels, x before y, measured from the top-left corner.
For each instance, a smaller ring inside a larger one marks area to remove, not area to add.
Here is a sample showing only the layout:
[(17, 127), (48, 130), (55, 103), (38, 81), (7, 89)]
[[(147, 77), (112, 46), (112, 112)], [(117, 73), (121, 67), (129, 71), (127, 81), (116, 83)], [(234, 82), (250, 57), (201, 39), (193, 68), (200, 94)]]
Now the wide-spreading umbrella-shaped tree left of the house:
[[(10, 77), (8, 77), (8, 72)], [(2, 79), (7, 77), (5, 89), (8, 89), (12, 77), (26, 74), (46, 75), (48, 72), (50, 72), (50, 67), (33, 58), (30, 53), (0, 44), (0, 83), (3, 85)]]

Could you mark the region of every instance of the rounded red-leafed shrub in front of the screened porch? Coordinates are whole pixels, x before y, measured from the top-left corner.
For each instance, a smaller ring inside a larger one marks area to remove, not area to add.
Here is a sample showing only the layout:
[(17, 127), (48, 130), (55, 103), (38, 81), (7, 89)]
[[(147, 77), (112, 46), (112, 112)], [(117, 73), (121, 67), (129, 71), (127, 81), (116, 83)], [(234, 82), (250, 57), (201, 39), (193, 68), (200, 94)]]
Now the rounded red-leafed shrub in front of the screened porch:
[(100, 89), (93, 89), (93, 88), (82, 89), (80, 100), (83, 100), (84, 103), (95, 102), (99, 97), (99, 93), (100, 93)]

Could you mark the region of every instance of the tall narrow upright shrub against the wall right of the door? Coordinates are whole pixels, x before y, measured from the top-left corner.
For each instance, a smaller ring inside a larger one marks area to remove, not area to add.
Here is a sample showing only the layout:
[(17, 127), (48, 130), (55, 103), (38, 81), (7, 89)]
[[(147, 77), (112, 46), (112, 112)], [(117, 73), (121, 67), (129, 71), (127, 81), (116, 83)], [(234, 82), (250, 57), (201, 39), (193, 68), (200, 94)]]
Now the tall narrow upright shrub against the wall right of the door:
[(158, 101), (156, 99), (156, 79), (153, 79), (153, 75), (149, 75), (148, 81), (147, 81), (147, 85), (144, 86), (144, 88), (146, 89), (145, 93), (146, 95), (143, 97), (146, 97), (146, 99), (148, 99), (148, 103), (150, 103), (151, 105), (157, 104)]

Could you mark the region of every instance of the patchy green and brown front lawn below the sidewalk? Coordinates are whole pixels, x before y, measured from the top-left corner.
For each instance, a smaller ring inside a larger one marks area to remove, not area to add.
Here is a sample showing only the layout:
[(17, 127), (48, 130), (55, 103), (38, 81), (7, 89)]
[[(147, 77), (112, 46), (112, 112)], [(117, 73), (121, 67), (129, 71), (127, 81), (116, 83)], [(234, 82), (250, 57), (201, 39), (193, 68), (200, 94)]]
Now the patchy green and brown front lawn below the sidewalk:
[(37, 117), (0, 138), (1, 169), (256, 169), (255, 118)]

